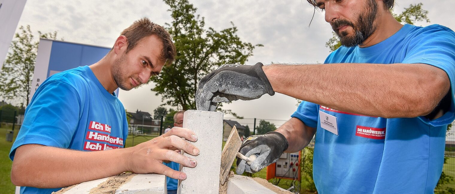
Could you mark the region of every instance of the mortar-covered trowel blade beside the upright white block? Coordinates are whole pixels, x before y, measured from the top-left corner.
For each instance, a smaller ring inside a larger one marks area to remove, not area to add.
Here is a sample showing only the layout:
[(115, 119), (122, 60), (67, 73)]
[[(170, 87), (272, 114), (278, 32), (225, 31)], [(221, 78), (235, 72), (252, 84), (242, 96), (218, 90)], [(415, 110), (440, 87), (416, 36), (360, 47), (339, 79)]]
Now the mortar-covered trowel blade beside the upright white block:
[(229, 170), (231, 170), (232, 163), (241, 145), (242, 140), (240, 140), (237, 128), (234, 126), (221, 152), (220, 185), (226, 182)]

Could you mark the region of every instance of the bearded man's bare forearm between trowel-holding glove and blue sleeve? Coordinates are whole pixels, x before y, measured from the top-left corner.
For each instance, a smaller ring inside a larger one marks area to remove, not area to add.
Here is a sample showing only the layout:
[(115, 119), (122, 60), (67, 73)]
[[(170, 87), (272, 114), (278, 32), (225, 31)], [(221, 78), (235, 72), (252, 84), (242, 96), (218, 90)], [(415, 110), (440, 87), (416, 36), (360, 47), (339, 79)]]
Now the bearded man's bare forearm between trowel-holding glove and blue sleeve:
[(285, 152), (296, 152), (307, 146), (313, 139), (316, 129), (306, 126), (298, 118), (291, 118), (276, 131), (283, 134), (288, 140), (288, 149)]

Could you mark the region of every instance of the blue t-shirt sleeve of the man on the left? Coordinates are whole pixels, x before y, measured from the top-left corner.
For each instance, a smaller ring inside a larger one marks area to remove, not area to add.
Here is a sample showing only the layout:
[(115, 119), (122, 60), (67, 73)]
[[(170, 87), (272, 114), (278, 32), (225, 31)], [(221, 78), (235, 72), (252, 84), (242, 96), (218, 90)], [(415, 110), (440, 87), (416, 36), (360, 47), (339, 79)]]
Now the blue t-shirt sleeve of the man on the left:
[(76, 89), (68, 83), (43, 83), (27, 107), (11, 147), (10, 159), (13, 160), (15, 150), (25, 144), (67, 148), (78, 125), (80, 102)]

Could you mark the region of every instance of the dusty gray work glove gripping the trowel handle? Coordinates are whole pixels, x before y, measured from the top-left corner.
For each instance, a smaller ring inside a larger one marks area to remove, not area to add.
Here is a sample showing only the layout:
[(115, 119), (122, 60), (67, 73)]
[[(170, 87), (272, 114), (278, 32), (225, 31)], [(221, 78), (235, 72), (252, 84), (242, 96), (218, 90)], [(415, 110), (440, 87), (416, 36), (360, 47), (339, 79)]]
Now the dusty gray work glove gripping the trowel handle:
[(277, 131), (270, 131), (265, 135), (249, 136), (243, 141), (239, 152), (246, 157), (255, 154), (257, 158), (251, 162), (251, 166), (247, 164), (247, 161), (237, 158), (235, 173), (242, 175), (244, 171), (259, 172), (259, 170), (276, 162), (286, 149), (288, 149), (288, 140)]

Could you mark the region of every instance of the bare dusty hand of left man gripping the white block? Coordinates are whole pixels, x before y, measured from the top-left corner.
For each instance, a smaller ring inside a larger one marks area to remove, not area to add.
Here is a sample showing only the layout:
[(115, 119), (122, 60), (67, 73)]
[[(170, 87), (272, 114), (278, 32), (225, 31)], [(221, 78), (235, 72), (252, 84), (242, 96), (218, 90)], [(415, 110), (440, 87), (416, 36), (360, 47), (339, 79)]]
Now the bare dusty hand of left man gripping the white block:
[(185, 173), (172, 170), (162, 164), (163, 160), (169, 160), (191, 168), (197, 165), (196, 160), (175, 151), (184, 150), (188, 154), (199, 155), (196, 146), (183, 140), (182, 137), (189, 141), (197, 141), (197, 136), (193, 131), (182, 127), (172, 127), (162, 136), (129, 148), (132, 149), (131, 157), (127, 159), (130, 160), (129, 171), (137, 174), (157, 173), (172, 179), (186, 179)]

